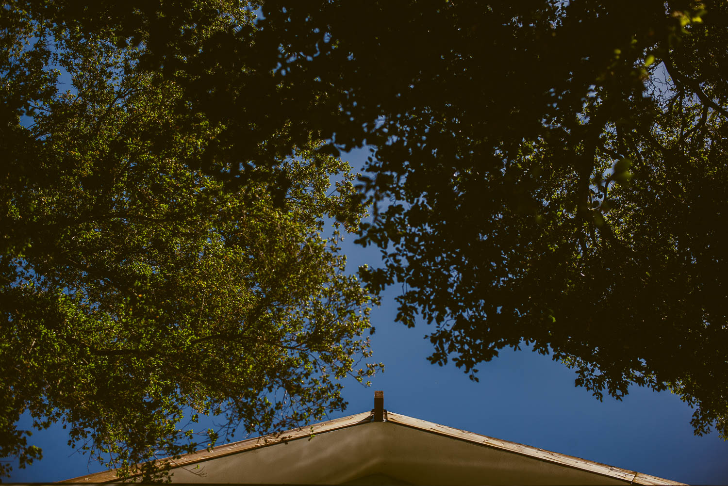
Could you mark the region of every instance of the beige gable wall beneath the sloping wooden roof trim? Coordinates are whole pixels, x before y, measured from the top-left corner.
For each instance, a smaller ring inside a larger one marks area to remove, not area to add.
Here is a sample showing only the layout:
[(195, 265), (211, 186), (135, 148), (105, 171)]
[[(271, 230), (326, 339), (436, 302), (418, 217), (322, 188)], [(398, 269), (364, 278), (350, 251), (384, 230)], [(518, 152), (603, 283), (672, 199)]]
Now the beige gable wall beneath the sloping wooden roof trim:
[[(362, 423), (174, 469), (174, 482), (323, 483), (384, 475), (427, 484), (625, 484), (391, 422)], [(198, 474), (202, 474), (199, 476)]]

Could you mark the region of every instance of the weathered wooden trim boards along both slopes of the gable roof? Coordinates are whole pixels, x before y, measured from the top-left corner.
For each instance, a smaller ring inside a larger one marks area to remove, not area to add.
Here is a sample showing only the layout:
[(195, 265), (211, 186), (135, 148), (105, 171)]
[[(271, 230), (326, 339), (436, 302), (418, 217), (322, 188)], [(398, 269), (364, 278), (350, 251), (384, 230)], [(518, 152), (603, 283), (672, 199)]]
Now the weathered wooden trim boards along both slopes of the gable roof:
[[(392, 425), (396, 424), (397, 426), (405, 426), (410, 429), (416, 429), (418, 431), (436, 434), (438, 436), (448, 437), (450, 439), (457, 439), (459, 441), (480, 445), (489, 449), (501, 450), (505, 453), (523, 456), (524, 458), (535, 459), (537, 461), (543, 461), (544, 463), (551, 463), (555, 466), (562, 466), (567, 469), (576, 469), (578, 471), (584, 471), (585, 473), (596, 474), (600, 477), (604, 477), (605, 479), (616, 479), (619, 482), (639, 485), (684, 484), (681, 482), (674, 482), (668, 479), (655, 477), (649, 474), (642, 474), (637, 471), (629, 471), (627, 469), (621, 469), (602, 463), (596, 463), (594, 461), (587, 461), (585, 459), (577, 458), (571, 455), (553, 453), (548, 450), (542, 450), (528, 445), (522, 445), (515, 442), (509, 442), (501, 439), (495, 439), (493, 437), (475, 434), (469, 431), (454, 429), (452, 427), (443, 426), (438, 423), (422, 421), (420, 419), (408, 417), (406, 415), (389, 412), (387, 413), (386, 417), (387, 422), (385, 423), (392, 423)], [(372, 415), (368, 412), (349, 415), (348, 417), (337, 418), (332, 421), (317, 423), (301, 429), (286, 431), (282, 434), (256, 437), (253, 439), (246, 439), (240, 442), (233, 442), (227, 445), (221, 445), (219, 447), (215, 447), (215, 450), (213, 451), (197, 451), (196, 453), (184, 455), (178, 460), (162, 459), (161, 461), (170, 461), (170, 463), (173, 464), (172, 467), (174, 470), (181, 467), (212, 461), (213, 459), (217, 458), (223, 458), (224, 456), (240, 454), (246, 451), (259, 450), (263, 447), (270, 447), (273, 445), (287, 443), (298, 439), (310, 438), (312, 437), (312, 434), (325, 434), (326, 432), (330, 431), (346, 429), (352, 426), (360, 426), (363, 424), (371, 423), (371, 418)], [(376, 449), (373, 448), (373, 450)], [(104, 471), (97, 474), (76, 477), (74, 479), (67, 479), (63, 482), (92, 484), (114, 481), (119, 481), (119, 477), (116, 476), (114, 471)]]

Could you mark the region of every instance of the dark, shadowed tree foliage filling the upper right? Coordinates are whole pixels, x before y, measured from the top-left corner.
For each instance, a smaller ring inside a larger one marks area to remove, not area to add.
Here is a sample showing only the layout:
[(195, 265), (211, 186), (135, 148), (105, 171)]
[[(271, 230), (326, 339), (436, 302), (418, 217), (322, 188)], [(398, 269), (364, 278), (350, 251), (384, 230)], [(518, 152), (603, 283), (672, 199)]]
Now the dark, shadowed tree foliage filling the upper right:
[(360, 188), (383, 204), (359, 242), (384, 266), (363, 276), (403, 284), (397, 319), (433, 323), (432, 362), (477, 379), (525, 345), (599, 399), (670, 389), (697, 434), (728, 436), (724, 2), (268, 1), (264, 15), (259, 44), (309, 94), (312, 130), (371, 147)]

